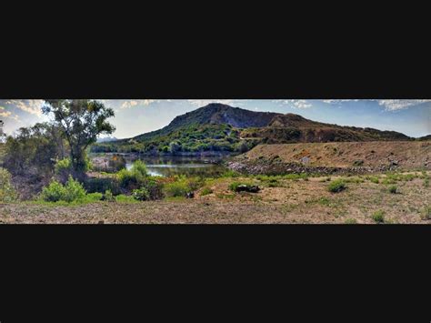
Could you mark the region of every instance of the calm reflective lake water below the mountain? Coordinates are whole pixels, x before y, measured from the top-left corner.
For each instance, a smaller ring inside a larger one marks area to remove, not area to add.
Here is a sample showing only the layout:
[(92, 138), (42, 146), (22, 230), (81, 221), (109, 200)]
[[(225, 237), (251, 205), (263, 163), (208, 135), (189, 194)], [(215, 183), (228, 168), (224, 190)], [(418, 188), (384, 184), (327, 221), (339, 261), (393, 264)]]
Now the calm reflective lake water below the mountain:
[(215, 177), (226, 171), (221, 165), (224, 159), (218, 156), (125, 156), (125, 167), (130, 169), (136, 159), (142, 160), (148, 173), (153, 176), (170, 177), (174, 175)]

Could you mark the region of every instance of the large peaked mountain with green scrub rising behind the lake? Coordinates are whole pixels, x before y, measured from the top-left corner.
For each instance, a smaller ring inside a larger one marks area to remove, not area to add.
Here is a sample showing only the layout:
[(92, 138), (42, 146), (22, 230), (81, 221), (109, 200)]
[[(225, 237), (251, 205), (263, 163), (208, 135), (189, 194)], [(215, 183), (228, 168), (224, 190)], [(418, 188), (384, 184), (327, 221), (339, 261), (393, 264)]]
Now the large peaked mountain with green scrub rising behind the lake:
[(295, 114), (256, 112), (222, 104), (176, 116), (159, 130), (95, 145), (93, 151), (144, 152), (157, 155), (244, 152), (257, 144), (296, 142), (411, 140), (395, 131), (338, 126)]

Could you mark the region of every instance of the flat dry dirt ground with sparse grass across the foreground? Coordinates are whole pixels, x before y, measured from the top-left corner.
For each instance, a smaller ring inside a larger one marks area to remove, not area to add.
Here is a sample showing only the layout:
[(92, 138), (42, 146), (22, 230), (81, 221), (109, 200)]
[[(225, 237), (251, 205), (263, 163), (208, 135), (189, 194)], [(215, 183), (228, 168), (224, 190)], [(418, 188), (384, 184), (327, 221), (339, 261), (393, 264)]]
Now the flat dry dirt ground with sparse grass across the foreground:
[[(330, 193), (326, 177), (308, 180), (219, 178), (208, 182), (212, 193), (193, 199), (137, 203), (97, 202), (80, 206), (55, 206), (21, 202), (0, 205), (0, 223), (10, 224), (375, 224), (379, 211), (385, 223), (431, 224), (431, 188), (424, 174), (396, 182), (391, 194), (379, 176), (379, 184), (367, 177), (344, 177), (346, 190)], [(427, 177), (431, 172), (427, 173)], [(332, 177), (335, 179), (336, 177)], [(257, 184), (261, 191), (234, 193), (233, 181)]]

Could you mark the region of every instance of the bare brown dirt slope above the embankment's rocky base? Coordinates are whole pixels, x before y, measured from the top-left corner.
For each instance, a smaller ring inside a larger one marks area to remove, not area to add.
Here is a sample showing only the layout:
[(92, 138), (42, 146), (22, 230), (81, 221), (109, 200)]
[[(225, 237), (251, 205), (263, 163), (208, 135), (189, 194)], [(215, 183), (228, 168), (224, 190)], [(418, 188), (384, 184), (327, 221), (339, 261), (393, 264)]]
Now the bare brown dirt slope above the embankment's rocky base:
[(431, 141), (376, 141), (259, 145), (245, 156), (251, 160), (279, 156), (284, 162), (300, 162), (307, 158), (310, 166), (353, 167), (362, 161), (363, 167), (381, 167), (391, 162), (403, 169), (431, 169)]

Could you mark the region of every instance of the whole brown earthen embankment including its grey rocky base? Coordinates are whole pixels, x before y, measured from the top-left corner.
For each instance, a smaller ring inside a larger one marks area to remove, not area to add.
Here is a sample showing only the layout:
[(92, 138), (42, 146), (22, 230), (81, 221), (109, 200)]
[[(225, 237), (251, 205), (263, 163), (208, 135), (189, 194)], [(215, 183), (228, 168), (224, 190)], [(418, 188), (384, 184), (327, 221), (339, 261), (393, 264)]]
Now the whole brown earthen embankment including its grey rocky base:
[(227, 166), (248, 174), (375, 173), (431, 169), (431, 141), (259, 145)]

